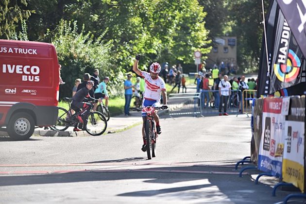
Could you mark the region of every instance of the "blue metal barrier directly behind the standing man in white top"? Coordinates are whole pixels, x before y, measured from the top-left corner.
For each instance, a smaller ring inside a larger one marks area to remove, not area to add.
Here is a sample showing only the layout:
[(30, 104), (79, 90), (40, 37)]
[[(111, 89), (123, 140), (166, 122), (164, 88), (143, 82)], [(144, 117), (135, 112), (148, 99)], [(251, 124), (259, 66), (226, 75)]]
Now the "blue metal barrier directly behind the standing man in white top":
[[(207, 104), (207, 95), (208, 92), (209, 100)], [(204, 96), (205, 95), (205, 96)], [(231, 90), (230, 96), (225, 97), (226, 99), (226, 113), (228, 114), (238, 114), (240, 108), (240, 100), (241, 100), (241, 91), (240, 90)], [(200, 103), (202, 105), (202, 115), (218, 115), (219, 112), (219, 106), (220, 106), (220, 100), (221, 97), (219, 95), (219, 90), (201, 90), (201, 99)], [(221, 114), (224, 113), (224, 105), (225, 102), (222, 101), (222, 109)]]

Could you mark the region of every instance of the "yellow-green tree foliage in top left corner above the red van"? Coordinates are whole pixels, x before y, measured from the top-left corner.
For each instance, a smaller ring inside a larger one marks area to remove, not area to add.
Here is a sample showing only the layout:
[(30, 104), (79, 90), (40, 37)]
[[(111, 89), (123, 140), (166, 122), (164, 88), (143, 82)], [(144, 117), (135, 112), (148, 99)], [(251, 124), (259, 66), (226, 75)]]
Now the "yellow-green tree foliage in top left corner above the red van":
[(25, 8), (27, 4), (27, 0), (0, 1), (0, 36), (11, 37), (15, 33), (16, 24), (30, 17), (33, 11)]

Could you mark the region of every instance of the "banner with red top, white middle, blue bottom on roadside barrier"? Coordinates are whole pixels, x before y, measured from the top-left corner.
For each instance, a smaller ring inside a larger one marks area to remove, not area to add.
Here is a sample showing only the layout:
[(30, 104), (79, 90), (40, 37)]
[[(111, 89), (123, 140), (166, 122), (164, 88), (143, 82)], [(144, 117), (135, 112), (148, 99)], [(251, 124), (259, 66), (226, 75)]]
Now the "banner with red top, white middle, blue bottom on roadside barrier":
[(265, 98), (262, 113), (258, 169), (281, 176), (284, 151), (285, 116), (282, 98)]

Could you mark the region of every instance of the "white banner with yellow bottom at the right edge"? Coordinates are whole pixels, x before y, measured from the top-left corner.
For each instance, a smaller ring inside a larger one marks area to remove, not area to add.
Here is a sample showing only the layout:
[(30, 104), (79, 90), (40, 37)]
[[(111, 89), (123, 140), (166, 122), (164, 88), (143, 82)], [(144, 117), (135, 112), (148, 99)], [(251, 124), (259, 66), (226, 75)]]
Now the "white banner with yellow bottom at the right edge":
[(283, 181), (293, 184), (304, 193), (305, 98), (291, 97), (285, 126)]

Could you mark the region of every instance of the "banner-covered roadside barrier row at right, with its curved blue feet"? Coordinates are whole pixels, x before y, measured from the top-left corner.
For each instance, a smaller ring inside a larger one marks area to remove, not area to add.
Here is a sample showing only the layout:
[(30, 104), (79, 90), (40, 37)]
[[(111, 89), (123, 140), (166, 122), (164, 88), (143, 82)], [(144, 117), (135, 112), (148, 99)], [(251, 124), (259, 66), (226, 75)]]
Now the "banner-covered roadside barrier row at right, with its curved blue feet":
[(261, 175), (276, 176), (282, 183), (273, 188), (272, 195), (277, 187), (292, 185), (303, 194), (291, 194), (285, 198), (286, 202), (291, 197), (306, 197), (305, 97), (254, 101), (251, 161), (265, 172), (258, 175), (256, 182)]

